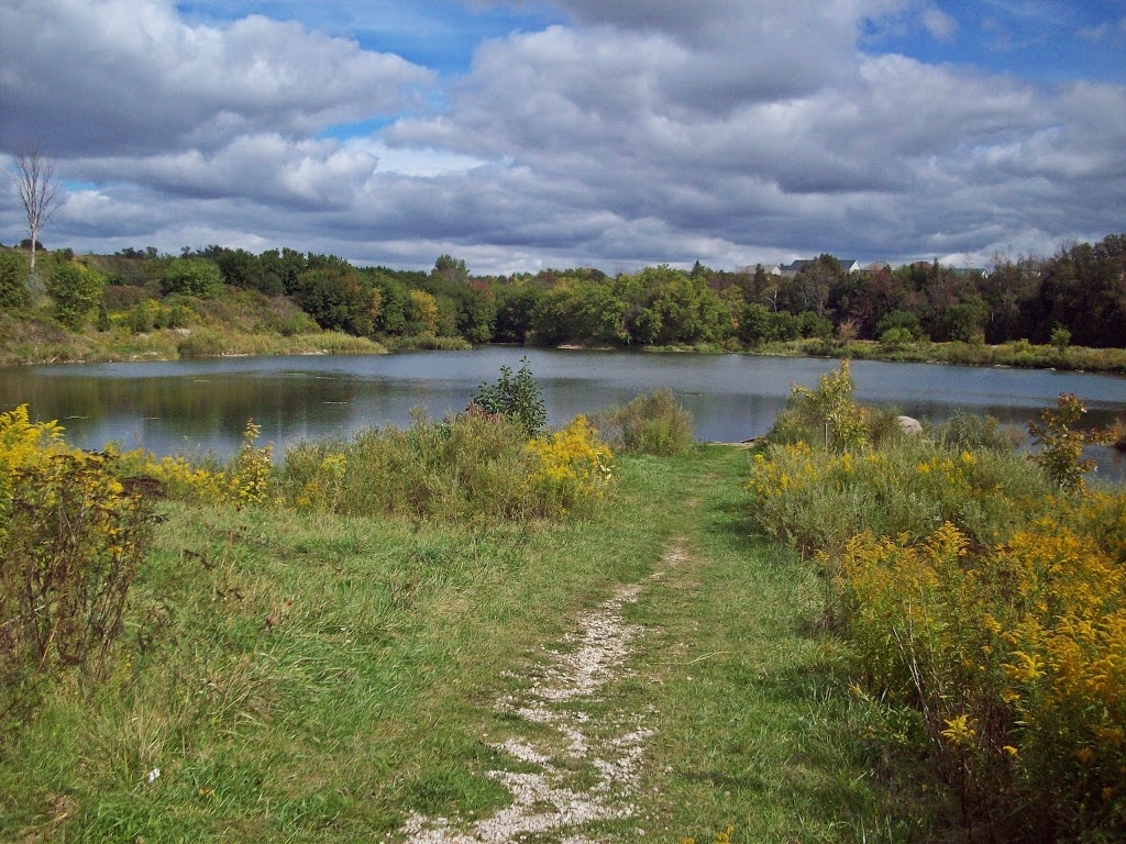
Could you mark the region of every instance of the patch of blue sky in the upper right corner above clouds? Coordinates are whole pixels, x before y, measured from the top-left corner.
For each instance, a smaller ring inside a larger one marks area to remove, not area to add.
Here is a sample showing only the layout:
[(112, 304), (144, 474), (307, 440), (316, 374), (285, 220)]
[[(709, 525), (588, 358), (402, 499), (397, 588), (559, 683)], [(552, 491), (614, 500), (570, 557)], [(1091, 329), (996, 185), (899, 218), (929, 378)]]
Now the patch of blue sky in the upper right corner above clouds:
[(866, 21), (861, 48), (1042, 83), (1126, 83), (1126, 0), (938, 2), (929, 11), (939, 14), (930, 26), (926, 14)]

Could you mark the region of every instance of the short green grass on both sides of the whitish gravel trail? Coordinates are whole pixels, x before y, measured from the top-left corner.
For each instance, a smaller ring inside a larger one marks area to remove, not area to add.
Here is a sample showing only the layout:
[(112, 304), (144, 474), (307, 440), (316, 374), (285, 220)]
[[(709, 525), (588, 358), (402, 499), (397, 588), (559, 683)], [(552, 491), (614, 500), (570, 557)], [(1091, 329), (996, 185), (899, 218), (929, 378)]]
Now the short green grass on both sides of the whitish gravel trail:
[(556, 526), (166, 505), (109, 681), (64, 684), (0, 748), (0, 839), (404, 841), (412, 816), (494, 816), (497, 772), (589, 791), (582, 754), (503, 752), (546, 728), (497, 703), (623, 584), (638, 627), (556, 709), (590, 743), (634, 725), (631, 809), (530, 839), (913, 837), (835, 691), (822, 585), (750, 531), (747, 465), (622, 459), (606, 506)]

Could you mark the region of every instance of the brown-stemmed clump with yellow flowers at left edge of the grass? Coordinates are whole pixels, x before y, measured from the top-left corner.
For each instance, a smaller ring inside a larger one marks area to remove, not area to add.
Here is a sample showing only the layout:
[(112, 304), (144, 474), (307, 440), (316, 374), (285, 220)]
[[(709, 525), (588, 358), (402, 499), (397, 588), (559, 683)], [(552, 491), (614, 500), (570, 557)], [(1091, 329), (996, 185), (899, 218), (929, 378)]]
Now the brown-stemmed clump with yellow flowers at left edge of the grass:
[(0, 414), (0, 721), (66, 667), (97, 679), (152, 537), (116, 460), (69, 449), (27, 406)]

